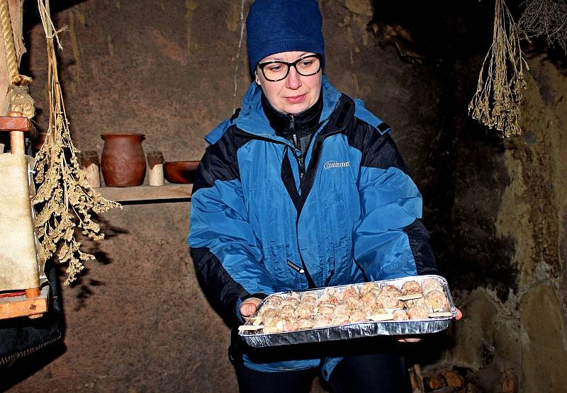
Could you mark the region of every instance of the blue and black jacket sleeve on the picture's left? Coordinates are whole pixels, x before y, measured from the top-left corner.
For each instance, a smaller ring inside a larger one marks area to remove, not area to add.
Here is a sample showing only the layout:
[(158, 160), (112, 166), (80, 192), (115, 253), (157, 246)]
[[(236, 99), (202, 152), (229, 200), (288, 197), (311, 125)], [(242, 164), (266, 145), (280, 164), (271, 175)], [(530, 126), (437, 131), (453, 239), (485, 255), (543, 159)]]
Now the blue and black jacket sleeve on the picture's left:
[(274, 292), (249, 224), (228, 133), (208, 147), (197, 169), (188, 242), (203, 292), (231, 323), (240, 319), (242, 300)]

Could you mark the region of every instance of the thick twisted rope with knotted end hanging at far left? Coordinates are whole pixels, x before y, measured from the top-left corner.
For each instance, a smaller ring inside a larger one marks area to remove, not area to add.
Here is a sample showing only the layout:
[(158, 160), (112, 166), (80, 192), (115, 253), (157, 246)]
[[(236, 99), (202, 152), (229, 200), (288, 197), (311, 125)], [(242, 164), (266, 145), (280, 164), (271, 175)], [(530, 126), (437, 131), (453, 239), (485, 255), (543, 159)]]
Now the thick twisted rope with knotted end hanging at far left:
[(20, 75), (18, 62), (16, 61), (16, 45), (13, 42), (13, 30), (10, 18), (8, 0), (0, 0), (0, 24), (2, 37), (4, 38), (4, 49), (6, 50), (6, 65), (10, 74), (10, 111), (21, 112), (28, 119), (35, 116), (35, 106), (31, 98), (28, 84), (31, 83), (29, 76)]

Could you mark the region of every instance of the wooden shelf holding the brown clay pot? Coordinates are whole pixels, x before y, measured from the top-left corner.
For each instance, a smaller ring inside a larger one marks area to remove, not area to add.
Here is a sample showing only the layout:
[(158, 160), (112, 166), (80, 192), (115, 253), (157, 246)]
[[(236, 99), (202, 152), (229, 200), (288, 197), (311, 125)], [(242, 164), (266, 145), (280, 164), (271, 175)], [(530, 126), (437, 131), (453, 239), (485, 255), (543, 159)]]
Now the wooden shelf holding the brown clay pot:
[(193, 184), (164, 184), (164, 186), (100, 187), (94, 190), (116, 202), (191, 200)]

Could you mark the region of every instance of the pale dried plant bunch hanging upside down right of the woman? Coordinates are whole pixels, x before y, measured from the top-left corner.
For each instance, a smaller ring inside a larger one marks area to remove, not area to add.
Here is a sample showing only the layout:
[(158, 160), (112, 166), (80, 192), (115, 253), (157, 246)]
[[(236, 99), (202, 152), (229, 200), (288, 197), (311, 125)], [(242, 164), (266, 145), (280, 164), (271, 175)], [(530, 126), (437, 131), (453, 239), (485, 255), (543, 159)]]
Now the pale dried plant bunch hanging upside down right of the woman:
[(496, 0), (493, 42), (478, 76), (476, 94), (468, 104), (468, 114), (489, 128), (496, 127), (504, 137), (522, 134), (518, 121), (522, 89), (526, 87), (524, 69), (529, 67), (520, 49), (517, 26), (504, 0)]

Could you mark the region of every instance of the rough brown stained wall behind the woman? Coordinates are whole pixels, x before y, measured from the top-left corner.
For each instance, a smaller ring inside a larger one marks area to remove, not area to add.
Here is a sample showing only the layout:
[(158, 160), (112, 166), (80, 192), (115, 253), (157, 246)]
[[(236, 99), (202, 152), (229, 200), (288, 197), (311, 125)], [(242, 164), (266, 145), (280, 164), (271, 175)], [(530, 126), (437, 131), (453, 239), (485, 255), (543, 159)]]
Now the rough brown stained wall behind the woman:
[[(203, 136), (250, 82), (241, 21), (250, 1), (64, 3), (52, 13), (67, 25), (60, 72), (77, 147), (100, 154), (102, 132), (144, 132), (146, 151), (199, 159)], [(492, 5), (377, 4), (320, 1), (325, 74), (393, 127), (424, 196), (439, 268), (464, 310), (449, 331), (411, 347), (414, 370), (426, 383), (460, 381), (454, 389), (506, 391), (512, 381), (522, 392), (561, 391), (565, 76), (543, 55), (529, 59), (524, 135), (503, 141), (466, 115)], [(34, 7), (24, 9), (23, 66), (45, 130), (45, 38)], [(188, 214), (189, 203), (166, 202), (101, 216), (108, 238), (89, 245), (97, 260), (64, 288), (64, 343), (21, 361), (0, 383), (11, 392), (234, 392), (228, 329), (187, 254)]]

